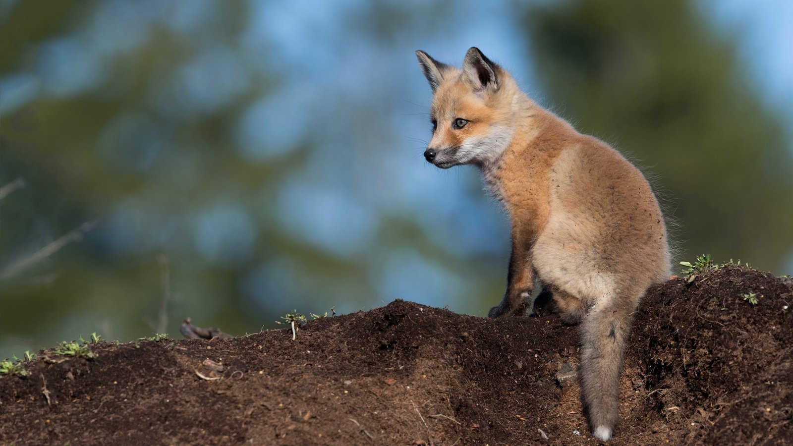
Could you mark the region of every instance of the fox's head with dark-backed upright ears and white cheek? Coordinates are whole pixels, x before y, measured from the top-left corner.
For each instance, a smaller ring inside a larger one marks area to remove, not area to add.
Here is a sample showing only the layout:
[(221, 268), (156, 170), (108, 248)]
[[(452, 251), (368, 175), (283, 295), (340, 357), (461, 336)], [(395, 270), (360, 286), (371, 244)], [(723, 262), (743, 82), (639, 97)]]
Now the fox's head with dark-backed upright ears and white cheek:
[(498, 160), (512, 139), (513, 98), (519, 92), (507, 71), (471, 48), (462, 69), (417, 51), (430, 82), (432, 139), (424, 158), (447, 169)]

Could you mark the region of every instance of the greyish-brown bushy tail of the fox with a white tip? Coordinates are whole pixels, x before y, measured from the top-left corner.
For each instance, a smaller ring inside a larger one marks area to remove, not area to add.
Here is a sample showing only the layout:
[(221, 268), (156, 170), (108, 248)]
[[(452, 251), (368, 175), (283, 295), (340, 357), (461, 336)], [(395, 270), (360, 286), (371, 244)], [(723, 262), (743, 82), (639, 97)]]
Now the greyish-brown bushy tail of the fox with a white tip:
[(619, 375), (635, 308), (626, 303), (595, 305), (581, 323), (581, 393), (592, 433), (603, 441), (611, 438), (617, 424)]

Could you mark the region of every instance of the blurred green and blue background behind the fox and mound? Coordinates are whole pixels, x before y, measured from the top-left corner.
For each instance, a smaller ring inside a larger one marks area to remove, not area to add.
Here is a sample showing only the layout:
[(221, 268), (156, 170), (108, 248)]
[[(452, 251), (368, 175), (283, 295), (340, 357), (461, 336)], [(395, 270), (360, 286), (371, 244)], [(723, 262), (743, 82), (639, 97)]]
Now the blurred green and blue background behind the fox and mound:
[(396, 298), (485, 315), (508, 221), (475, 168), (423, 160), (419, 48), (481, 48), (634, 160), (675, 263), (790, 273), (790, 17), (781, 0), (0, 0), (0, 358), (178, 336), (187, 316), (241, 335)]

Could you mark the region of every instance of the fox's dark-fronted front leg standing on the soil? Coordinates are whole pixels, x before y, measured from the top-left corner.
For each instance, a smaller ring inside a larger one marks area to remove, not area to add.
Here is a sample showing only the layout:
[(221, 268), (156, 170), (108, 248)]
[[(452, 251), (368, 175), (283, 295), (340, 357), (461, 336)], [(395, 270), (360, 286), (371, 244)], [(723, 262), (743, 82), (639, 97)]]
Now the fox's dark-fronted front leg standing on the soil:
[(522, 316), (531, 306), (534, 290), (534, 268), (531, 265), (531, 237), (512, 229), (512, 252), (509, 256), (507, 292), (499, 306), (488, 312), (488, 317)]

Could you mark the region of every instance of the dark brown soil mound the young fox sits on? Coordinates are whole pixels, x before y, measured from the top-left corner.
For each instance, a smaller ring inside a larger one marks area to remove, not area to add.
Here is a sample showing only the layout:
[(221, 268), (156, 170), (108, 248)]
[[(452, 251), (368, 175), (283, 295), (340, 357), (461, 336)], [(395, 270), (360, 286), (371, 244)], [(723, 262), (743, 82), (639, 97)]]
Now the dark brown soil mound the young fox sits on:
[[(611, 444), (791, 444), (791, 304), (790, 280), (742, 267), (649, 290)], [(577, 337), (555, 316), (396, 301), (309, 322), (297, 340), (44, 352), (27, 377), (0, 379), (0, 444), (596, 444), (564, 377)]]

